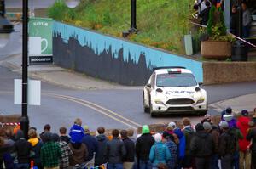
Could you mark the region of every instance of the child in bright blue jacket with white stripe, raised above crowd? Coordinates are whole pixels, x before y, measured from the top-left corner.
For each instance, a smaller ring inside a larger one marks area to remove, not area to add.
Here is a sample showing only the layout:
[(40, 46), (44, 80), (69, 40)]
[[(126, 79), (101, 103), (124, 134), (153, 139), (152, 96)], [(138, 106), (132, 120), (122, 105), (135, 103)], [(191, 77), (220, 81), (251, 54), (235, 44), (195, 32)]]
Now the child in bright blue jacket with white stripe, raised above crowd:
[(71, 138), (70, 142), (73, 144), (82, 143), (82, 138), (84, 138), (84, 128), (82, 127), (81, 119), (76, 119), (74, 121), (73, 127), (70, 128), (69, 136)]

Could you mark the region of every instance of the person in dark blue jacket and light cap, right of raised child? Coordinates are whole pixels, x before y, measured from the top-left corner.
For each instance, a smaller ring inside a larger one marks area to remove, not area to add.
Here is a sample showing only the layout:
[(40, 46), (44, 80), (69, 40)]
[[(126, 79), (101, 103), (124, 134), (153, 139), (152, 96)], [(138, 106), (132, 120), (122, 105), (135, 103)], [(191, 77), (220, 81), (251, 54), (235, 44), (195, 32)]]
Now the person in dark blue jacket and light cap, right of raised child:
[(98, 144), (96, 138), (90, 135), (88, 126), (84, 126), (84, 137), (82, 138), (82, 143), (86, 145), (89, 153), (88, 158), (86, 159), (88, 168), (94, 167), (94, 154), (97, 152)]

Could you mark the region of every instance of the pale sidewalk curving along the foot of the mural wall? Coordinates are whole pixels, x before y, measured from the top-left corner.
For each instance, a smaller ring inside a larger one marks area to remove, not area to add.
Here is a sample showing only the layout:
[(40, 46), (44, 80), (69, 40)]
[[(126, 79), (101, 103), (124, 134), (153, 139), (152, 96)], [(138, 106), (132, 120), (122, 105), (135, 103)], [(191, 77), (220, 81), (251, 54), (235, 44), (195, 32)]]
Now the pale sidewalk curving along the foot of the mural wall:
[[(0, 60), (0, 65), (8, 67), (10, 70), (21, 73), (21, 55), (11, 55)], [(113, 82), (106, 82), (73, 70), (63, 69), (57, 65), (30, 65), (28, 67), (28, 76), (44, 80), (44, 82), (53, 83), (61, 87), (69, 87), (82, 90), (96, 89), (124, 89), (136, 90), (143, 87), (125, 87)]]

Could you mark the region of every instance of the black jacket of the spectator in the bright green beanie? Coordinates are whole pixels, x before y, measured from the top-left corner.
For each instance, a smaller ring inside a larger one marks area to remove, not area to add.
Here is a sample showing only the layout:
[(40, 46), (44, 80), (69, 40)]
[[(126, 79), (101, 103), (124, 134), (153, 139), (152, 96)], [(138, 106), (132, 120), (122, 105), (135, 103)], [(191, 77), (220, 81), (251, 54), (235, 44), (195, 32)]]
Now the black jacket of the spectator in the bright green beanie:
[(136, 142), (136, 154), (137, 158), (141, 161), (149, 160), (150, 149), (154, 145), (154, 138), (150, 133), (143, 134), (137, 138)]

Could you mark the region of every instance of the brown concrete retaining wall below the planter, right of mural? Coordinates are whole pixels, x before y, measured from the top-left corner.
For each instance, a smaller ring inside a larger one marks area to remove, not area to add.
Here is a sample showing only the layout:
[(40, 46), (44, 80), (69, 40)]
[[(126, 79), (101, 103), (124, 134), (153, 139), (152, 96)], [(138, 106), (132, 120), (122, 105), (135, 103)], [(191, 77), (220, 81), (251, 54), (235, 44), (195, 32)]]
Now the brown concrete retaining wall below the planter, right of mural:
[(204, 62), (204, 84), (256, 81), (256, 62)]

